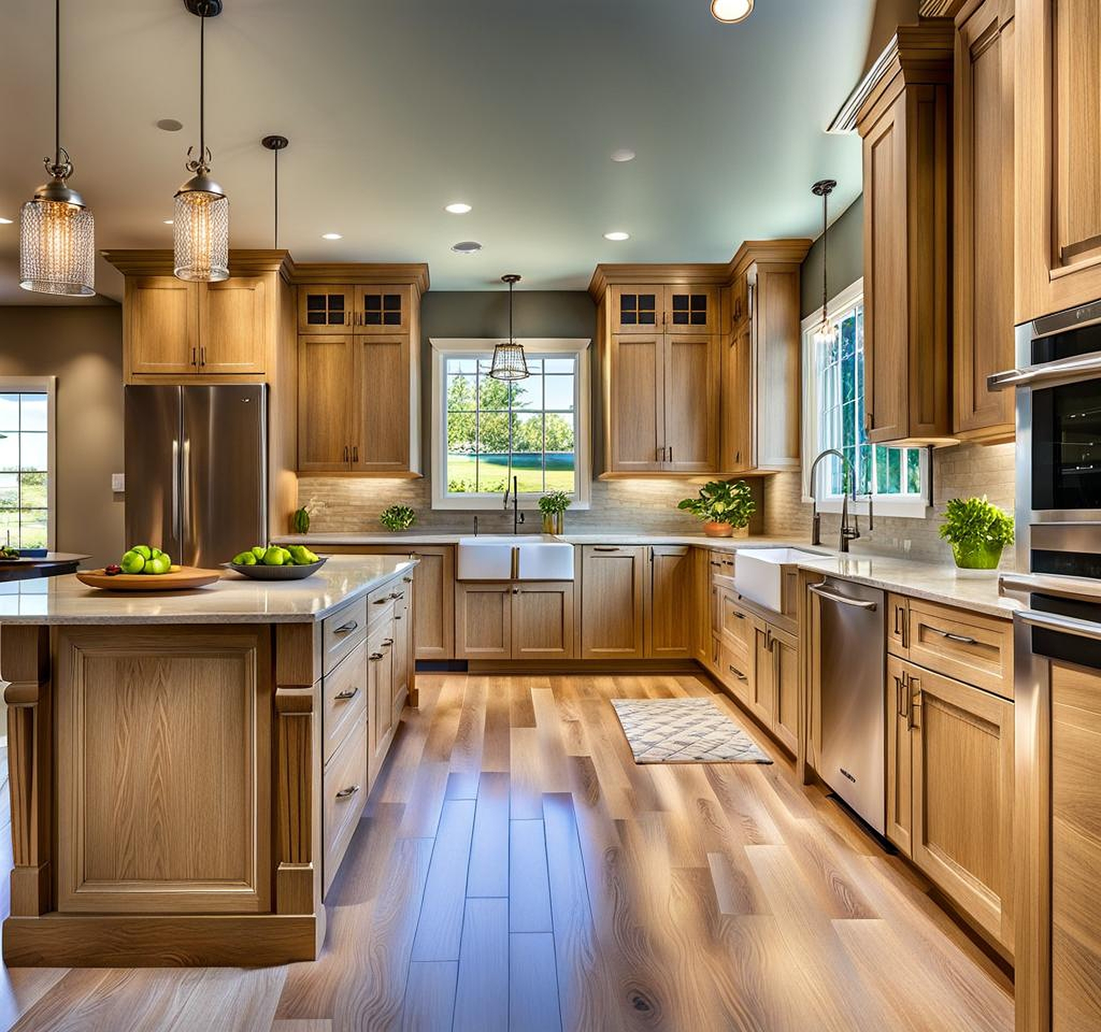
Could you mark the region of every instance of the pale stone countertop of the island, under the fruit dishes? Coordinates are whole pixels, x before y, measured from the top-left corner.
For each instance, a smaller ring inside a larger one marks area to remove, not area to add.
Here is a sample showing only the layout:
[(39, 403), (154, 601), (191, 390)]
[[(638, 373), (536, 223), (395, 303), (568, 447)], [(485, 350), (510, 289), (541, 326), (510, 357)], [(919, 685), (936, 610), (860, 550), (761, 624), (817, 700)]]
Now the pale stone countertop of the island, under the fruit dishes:
[(75, 576), (0, 584), (0, 623), (309, 623), (416, 565), (400, 555), (333, 556), (304, 580), (226, 571), (192, 591), (99, 591)]

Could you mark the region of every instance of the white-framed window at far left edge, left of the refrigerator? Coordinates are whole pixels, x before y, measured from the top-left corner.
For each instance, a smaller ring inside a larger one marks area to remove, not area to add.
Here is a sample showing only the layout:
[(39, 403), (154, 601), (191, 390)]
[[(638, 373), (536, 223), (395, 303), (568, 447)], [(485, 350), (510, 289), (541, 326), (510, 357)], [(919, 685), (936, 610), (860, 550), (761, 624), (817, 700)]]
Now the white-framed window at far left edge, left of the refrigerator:
[(54, 378), (0, 379), (0, 544), (54, 541)]

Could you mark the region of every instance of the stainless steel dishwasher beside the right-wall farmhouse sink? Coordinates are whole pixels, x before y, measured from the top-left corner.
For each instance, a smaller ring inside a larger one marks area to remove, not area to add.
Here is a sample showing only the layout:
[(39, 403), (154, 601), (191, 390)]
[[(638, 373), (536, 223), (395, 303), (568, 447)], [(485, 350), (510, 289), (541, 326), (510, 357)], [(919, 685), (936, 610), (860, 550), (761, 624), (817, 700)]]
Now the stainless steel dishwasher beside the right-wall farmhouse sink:
[(810, 585), (821, 756), (818, 774), (881, 835), (886, 832), (884, 593), (826, 577)]

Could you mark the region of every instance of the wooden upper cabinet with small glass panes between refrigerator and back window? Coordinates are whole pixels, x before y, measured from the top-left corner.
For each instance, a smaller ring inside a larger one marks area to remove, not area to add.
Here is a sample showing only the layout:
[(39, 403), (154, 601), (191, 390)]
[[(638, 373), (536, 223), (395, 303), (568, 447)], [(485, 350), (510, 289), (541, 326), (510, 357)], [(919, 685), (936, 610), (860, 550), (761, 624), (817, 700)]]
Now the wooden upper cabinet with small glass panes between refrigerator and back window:
[(427, 267), (298, 265), (295, 276), (298, 471), (419, 476)]

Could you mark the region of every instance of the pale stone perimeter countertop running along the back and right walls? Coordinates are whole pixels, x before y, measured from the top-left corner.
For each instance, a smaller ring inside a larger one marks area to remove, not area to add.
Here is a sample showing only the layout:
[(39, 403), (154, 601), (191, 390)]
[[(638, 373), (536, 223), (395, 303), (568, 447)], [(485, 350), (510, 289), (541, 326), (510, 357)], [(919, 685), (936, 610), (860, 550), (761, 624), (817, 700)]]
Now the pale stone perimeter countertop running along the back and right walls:
[[(284, 544), (308, 544), (324, 552), (334, 545), (404, 545), (415, 550), (417, 545), (456, 544), (460, 537), (472, 534), (445, 532), (437, 534), (355, 534), (328, 533), (282, 537)], [(519, 535), (521, 539), (523, 534)], [(922, 562), (887, 555), (866, 553), (842, 554), (825, 545), (808, 545), (806, 539), (794, 537), (707, 537), (702, 534), (644, 534), (632, 531), (608, 530), (590, 534), (564, 534), (562, 541), (575, 545), (696, 545), (721, 552), (737, 552), (741, 548), (797, 547), (800, 551), (821, 553), (821, 561), (803, 563), (800, 567), (815, 573), (829, 574), (857, 580), (886, 591), (897, 591), (914, 598), (925, 598), (946, 606), (958, 606), (975, 612), (1010, 619), (1021, 604), (1003, 598), (998, 591), (998, 573), (980, 576), (961, 574), (947, 563)]]

